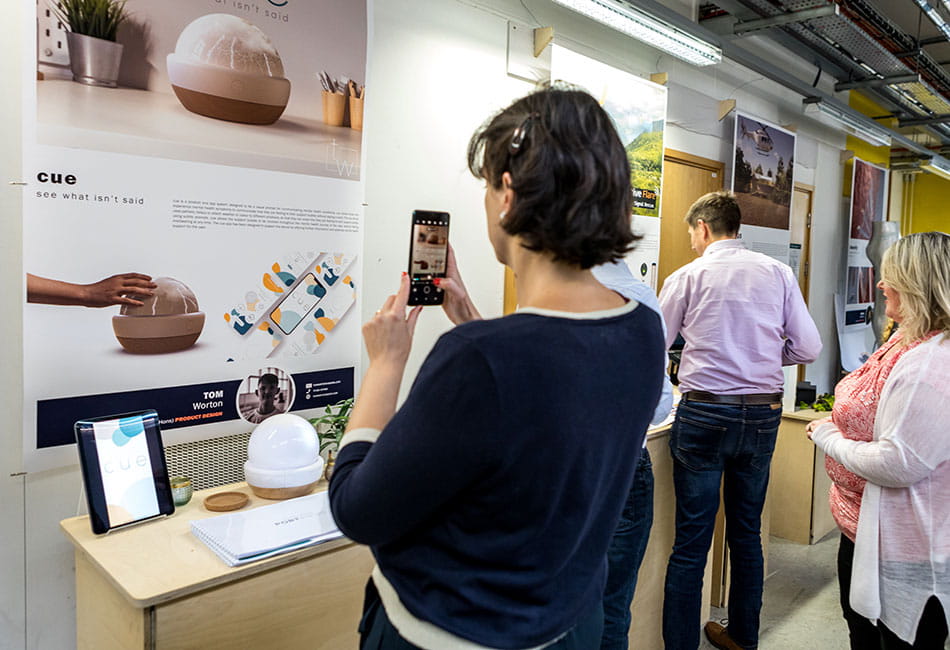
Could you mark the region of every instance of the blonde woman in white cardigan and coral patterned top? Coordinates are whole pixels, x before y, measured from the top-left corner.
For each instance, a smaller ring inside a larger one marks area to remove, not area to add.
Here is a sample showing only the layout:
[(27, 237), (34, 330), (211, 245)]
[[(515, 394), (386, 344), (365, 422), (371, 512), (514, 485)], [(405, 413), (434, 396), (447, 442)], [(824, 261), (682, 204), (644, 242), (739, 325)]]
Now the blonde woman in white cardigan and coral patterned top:
[[(852, 373), (857, 380), (842, 380), (832, 417), (811, 423), (809, 435), (867, 480), (862, 496), (860, 483), (831, 465), (851, 647), (942, 649), (950, 611), (950, 235), (909, 235), (881, 267), (878, 286), (898, 334)], [(862, 424), (871, 439), (860, 438)], [(857, 506), (842, 485), (858, 488), (848, 488)]]

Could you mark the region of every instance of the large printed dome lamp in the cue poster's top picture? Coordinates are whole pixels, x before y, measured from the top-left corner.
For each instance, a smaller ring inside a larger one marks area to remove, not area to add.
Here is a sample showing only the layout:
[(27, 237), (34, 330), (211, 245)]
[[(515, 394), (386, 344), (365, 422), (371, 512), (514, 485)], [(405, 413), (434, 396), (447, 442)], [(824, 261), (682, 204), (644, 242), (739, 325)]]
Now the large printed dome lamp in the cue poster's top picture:
[(192, 21), (167, 64), (178, 100), (199, 115), (272, 124), (290, 99), (277, 48), (259, 27), (238, 16), (207, 14)]

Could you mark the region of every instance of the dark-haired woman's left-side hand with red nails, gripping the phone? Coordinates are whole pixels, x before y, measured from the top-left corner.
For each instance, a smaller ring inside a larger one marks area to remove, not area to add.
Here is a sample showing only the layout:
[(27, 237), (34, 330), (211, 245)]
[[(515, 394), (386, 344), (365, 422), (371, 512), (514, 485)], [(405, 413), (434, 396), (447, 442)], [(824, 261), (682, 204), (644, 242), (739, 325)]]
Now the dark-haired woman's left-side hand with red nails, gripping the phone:
[(370, 364), (398, 367), (400, 372), (406, 365), (412, 348), (412, 333), (422, 311), (422, 307), (414, 307), (406, 315), (409, 285), (409, 276), (403, 273), (399, 292), (386, 298), (376, 315), (363, 325), (363, 342)]

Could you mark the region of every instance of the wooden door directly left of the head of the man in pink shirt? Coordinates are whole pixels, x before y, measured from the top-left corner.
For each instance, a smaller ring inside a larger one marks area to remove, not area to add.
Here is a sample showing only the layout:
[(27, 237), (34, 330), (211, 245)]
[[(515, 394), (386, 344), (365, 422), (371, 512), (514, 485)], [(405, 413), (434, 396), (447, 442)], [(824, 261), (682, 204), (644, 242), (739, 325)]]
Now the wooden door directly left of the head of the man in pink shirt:
[(657, 292), (670, 273), (696, 258), (683, 218), (696, 199), (722, 189), (724, 168), (716, 160), (673, 149), (664, 151)]

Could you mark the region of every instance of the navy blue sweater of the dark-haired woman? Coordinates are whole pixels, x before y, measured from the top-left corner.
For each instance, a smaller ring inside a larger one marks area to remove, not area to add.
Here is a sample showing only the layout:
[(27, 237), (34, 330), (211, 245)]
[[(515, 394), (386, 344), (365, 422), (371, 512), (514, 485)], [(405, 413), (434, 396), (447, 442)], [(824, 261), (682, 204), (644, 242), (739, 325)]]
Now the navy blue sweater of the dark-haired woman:
[(519, 313), (443, 335), (330, 504), (417, 618), (526, 648), (598, 602), (665, 365), (650, 309)]

